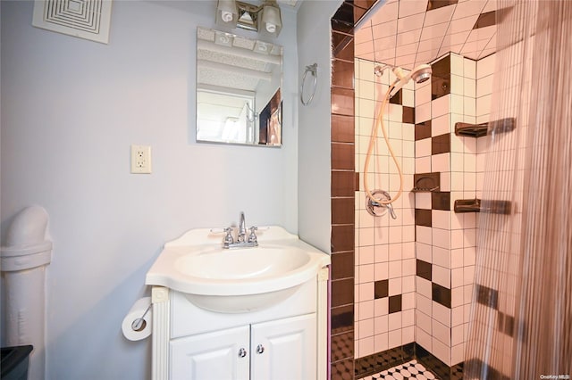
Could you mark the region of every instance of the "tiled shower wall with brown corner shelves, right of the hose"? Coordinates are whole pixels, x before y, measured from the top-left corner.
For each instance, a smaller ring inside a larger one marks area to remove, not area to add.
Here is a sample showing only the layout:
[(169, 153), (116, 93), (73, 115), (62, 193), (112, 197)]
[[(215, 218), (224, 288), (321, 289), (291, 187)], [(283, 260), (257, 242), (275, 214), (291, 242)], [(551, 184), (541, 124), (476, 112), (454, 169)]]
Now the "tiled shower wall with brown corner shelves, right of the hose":
[(430, 134), (416, 138), (416, 172), (441, 174), (440, 192), (416, 194), (416, 215), (432, 213), (430, 220), (416, 219), (416, 343), (447, 366), (464, 359), (478, 218), (476, 213), (454, 213), (453, 203), (474, 199), (483, 188), (487, 141), (456, 136), (454, 128), (458, 121), (488, 121), (493, 60), (494, 55), (475, 62), (450, 54), (433, 63), (438, 70), (431, 85), (416, 86), (417, 128), (425, 128), (427, 121), (431, 126)]

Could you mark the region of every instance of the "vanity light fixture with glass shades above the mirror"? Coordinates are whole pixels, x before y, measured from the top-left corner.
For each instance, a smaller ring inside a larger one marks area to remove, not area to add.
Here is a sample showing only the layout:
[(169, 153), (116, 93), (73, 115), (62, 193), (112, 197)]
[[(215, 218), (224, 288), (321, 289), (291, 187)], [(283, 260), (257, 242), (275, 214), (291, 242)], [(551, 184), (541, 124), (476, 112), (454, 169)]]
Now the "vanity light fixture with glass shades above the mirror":
[(262, 5), (252, 5), (236, 0), (218, 0), (216, 23), (231, 29), (255, 30), (278, 37), (282, 29), (280, 6), (276, 0), (265, 0)]

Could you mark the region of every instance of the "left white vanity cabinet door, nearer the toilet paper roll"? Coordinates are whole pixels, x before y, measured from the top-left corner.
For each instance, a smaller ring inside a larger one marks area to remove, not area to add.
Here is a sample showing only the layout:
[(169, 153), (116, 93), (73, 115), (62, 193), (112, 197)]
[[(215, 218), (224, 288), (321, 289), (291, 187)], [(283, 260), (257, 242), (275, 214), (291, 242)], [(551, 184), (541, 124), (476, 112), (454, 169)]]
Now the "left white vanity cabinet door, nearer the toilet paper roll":
[(171, 380), (248, 380), (250, 328), (191, 335), (170, 343)]

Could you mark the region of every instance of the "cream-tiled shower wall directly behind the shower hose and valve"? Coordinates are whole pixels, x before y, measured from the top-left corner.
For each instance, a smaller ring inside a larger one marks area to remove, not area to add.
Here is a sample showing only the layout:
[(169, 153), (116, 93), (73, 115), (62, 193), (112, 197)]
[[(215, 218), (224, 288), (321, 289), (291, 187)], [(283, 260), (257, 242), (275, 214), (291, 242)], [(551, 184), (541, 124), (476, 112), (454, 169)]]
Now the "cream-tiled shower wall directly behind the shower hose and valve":
[[(374, 112), (380, 98), (395, 79), (385, 70), (376, 85), (374, 64), (356, 60), (356, 170), (359, 188), (356, 198), (356, 357), (414, 342), (415, 339), (415, 95), (413, 84), (394, 95), (385, 112), (385, 127), (401, 164), (404, 186), (393, 203), (398, 219), (386, 213), (374, 218), (366, 211), (363, 176)], [(380, 95), (379, 91), (382, 91)], [(378, 131), (377, 148), (368, 170), (370, 190), (397, 194), (400, 178)]]

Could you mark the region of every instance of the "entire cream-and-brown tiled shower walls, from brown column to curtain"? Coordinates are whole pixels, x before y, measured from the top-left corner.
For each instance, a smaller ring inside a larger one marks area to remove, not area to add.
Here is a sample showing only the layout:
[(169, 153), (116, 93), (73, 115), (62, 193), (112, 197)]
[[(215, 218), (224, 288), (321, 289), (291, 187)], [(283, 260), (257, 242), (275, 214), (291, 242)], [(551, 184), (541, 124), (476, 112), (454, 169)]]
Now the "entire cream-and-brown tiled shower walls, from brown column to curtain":
[[(463, 360), (475, 270), (475, 213), (456, 214), (456, 199), (480, 195), (485, 137), (455, 136), (455, 123), (488, 121), (494, 55), (480, 62), (449, 54), (433, 62), (433, 78), (395, 95), (387, 112), (391, 145), (402, 163), (398, 219), (365, 210), (356, 193), (356, 357), (416, 342), (448, 366)], [(356, 60), (356, 170), (374, 121), (373, 63)], [(384, 72), (383, 92), (393, 80)], [(415, 115), (414, 120), (409, 115)], [(381, 135), (381, 133), (380, 133)], [(399, 188), (378, 137), (372, 188)], [(416, 193), (414, 173), (438, 172), (441, 187)]]

